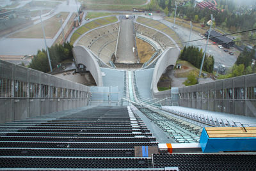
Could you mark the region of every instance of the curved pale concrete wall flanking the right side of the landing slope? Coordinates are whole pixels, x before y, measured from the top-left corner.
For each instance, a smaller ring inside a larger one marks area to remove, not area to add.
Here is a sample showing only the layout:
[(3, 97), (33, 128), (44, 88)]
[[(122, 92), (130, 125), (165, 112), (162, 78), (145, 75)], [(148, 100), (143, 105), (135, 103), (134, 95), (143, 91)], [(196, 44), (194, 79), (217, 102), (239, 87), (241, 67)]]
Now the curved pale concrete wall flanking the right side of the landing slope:
[(170, 96), (170, 91), (158, 91), (157, 82), (159, 81), (159, 78), (161, 77), (161, 75), (164, 73), (168, 66), (175, 66), (176, 61), (179, 58), (179, 54), (179, 48), (166, 48), (162, 56), (158, 59), (156, 66), (154, 68), (151, 85), (151, 92), (154, 98), (165, 98), (166, 96)]

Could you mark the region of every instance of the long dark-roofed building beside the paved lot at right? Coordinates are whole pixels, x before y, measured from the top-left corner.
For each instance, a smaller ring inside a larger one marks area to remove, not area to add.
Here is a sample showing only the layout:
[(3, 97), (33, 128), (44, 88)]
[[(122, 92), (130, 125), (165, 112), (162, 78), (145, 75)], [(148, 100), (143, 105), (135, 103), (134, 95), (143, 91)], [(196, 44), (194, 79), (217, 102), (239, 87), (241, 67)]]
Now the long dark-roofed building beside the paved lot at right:
[[(205, 37), (208, 37), (209, 31), (207, 31), (204, 35)], [(235, 41), (231, 38), (228, 38), (227, 36), (223, 36), (223, 34), (219, 33), (218, 31), (212, 30), (210, 39), (220, 45), (222, 45), (225, 48), (234, 47)]]

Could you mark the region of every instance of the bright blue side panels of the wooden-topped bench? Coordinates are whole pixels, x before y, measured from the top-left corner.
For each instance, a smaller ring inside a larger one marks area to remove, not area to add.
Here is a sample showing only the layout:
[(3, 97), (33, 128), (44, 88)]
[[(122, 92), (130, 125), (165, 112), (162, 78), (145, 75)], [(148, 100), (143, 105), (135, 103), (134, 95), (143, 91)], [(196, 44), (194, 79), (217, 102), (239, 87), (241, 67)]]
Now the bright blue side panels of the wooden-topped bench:
[(209, 138), (205, 128), (199, 143), (203, 152), (256, 151), (256, 137)]

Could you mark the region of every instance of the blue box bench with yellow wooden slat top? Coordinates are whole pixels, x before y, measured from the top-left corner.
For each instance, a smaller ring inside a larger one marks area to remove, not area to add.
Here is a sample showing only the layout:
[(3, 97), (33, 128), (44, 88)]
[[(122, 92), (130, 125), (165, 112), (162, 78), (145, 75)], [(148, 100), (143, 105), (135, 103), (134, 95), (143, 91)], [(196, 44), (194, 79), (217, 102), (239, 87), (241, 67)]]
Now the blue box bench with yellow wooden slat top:
[(203, 152), (256, 151), (256, 127), (209, 127), (200, 137)]

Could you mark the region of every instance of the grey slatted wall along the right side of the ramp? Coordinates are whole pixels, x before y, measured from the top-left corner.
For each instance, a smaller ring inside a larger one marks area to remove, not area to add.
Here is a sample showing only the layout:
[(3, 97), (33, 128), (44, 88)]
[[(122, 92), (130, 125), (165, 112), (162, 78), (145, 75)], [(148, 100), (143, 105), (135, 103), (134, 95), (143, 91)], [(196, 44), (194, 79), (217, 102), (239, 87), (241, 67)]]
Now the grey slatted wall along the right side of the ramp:
[(179, 105), (256, 117), (256, 74), (179, 88)]

